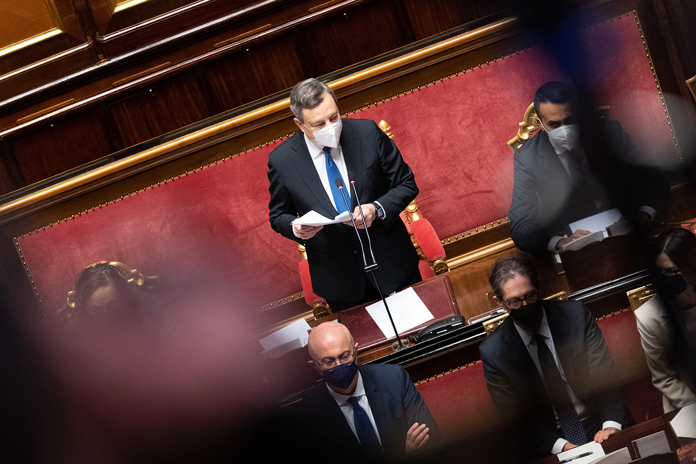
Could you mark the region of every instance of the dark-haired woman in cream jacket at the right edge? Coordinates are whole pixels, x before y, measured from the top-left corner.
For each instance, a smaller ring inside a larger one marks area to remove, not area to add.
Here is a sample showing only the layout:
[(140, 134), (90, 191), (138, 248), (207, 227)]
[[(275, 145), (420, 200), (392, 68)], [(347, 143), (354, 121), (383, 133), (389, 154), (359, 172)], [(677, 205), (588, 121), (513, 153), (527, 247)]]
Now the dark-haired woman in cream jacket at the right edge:
[(696, 336), (696, 236), (684, 229), (661, 234), (655, 265), (658, 295), (635, 310), (635, 320), (667, 413), (696, 402), (694, 363), (688, 355)]

